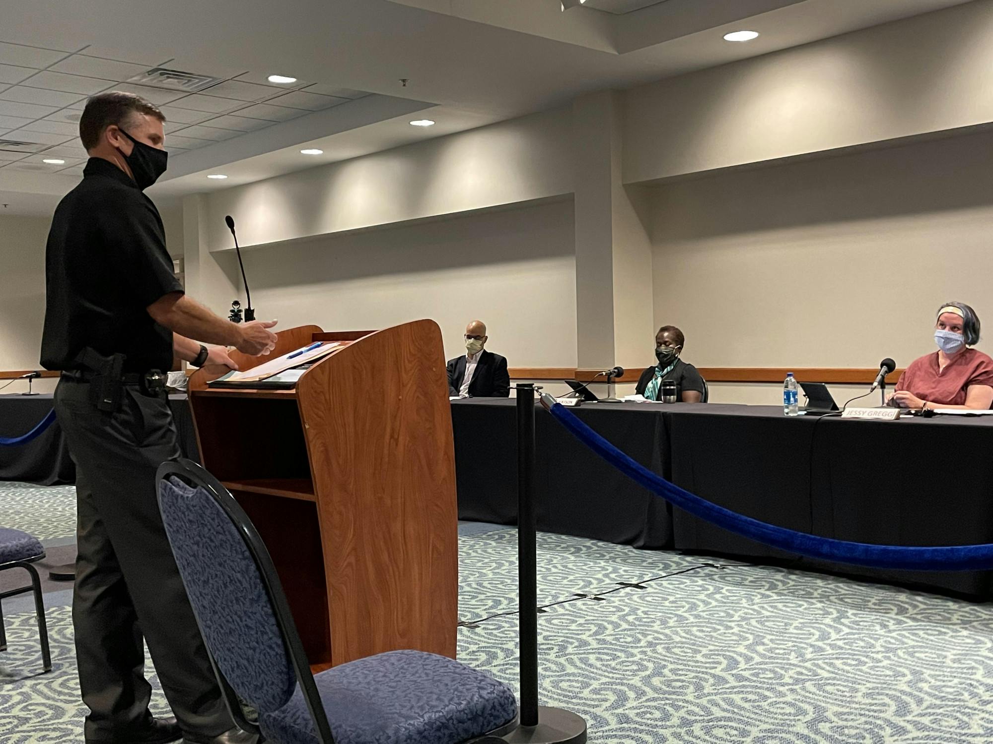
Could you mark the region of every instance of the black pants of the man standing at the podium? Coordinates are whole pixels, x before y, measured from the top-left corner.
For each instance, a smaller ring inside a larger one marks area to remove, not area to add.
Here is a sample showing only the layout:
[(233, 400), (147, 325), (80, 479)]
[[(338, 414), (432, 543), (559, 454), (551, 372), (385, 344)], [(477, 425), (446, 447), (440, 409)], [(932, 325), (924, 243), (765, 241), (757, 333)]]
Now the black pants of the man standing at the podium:
[(120, 410), (103, 413), (88, 383), (64, 378), (55, 404), (77, 471), (72, 624), (86, 740), (126, 737), (149, 717), (142, 639), (183, 729), (226, 731), (233, 723), (156, 499), (156, 469), (180, 455), (169, 402), (127, 386)]

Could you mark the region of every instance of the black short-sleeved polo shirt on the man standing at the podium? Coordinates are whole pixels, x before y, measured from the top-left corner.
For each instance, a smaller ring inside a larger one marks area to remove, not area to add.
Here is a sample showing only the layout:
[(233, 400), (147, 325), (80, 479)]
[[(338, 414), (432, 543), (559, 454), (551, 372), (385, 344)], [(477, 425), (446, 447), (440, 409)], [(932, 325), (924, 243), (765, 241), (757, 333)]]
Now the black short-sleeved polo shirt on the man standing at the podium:
[(171, 369), (173, 333), (146, 310), (183, 292), (159, 210), (109, 161), (90, 158), (82, 174), (49, 232), (42, 365), (74, 369), (89, 346), (126, 355), (126, 372)]

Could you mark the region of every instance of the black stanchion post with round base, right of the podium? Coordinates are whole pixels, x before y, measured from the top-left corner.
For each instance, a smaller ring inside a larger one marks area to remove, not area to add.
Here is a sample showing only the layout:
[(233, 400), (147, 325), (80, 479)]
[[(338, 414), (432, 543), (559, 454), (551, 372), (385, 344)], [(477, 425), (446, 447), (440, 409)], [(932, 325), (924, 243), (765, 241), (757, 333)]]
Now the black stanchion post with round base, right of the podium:
[(584, 744), (586, 721), (538, 705), (538, 566), (534, 514), (534, 385), (517, 391), (517, 583), (520, 617), (520, 723), (503, 741)]

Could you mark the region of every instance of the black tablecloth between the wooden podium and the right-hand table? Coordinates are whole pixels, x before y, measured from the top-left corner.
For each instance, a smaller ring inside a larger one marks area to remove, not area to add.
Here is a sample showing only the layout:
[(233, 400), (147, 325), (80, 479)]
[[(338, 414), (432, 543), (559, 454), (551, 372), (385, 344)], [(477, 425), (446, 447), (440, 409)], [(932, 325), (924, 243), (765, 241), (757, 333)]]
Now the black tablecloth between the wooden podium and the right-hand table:
[[(516, 402), (452, 402), (459, 518), (511, 525), (517, 518)], [(575, 409), (586, 424), (660, 475), (665, 430), (654, 406), (598, 404)], [(586, 450), (535, 407), (538, 529), (639, 548), (671, 546), (664, 501)]]

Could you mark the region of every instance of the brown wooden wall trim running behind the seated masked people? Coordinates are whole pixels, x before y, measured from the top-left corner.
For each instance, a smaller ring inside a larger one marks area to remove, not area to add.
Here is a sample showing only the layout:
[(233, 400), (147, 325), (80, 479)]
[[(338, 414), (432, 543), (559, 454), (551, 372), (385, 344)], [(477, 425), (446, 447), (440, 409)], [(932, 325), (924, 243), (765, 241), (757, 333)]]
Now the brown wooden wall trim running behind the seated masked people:
[[(638, 382), (643, 367), (625, 370), (624, 377), (617, 382)], [(699, 367), (700, 374), (707, 382), (778, 382), (786, 377), (786, 372), (792, 372), (797, 380), (803, 382), (823, 382), (829, 384), (866, 384), (876, 379), (878, 369), (858, 367)], [(574, 379), (583, 382), (592, 380), (600, 370), (574, 369), (569, 367), (510, 367), (510, 378), (513, 380), (565, 380)], [(903, 369), (897, 369), (887, 375), (887, 384), (895, 384), (900, 379)], [(600, 382), (600, 380), (598, 380)]]

